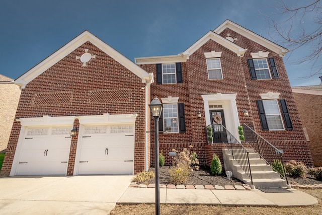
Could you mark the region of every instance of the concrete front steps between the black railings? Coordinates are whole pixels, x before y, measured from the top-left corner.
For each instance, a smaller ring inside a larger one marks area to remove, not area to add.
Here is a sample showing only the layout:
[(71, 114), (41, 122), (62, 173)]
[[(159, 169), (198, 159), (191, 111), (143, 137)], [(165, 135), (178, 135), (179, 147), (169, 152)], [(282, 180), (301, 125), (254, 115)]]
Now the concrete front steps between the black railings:
[[(231, 171), (232, 176), (243, 181), (245, 184), (252, 185), (251, 179), (240, 167), (228, 149), (222, 150), (225, 170)], [(267, 165), (254, 149), (249, 149), (249, 159), (255, 187), (286, 187), (286, 181), (281, 179), (280, 174), (273, 171), (272, 166)], [(247, 163), (245, 161), (245, 163)]]

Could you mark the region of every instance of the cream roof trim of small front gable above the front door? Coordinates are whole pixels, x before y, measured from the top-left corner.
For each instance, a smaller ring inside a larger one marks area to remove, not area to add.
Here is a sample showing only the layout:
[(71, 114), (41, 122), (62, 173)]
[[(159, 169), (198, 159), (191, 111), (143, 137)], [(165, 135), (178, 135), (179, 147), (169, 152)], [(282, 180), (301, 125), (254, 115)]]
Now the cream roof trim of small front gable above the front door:
[(226, 38), (223, 38), (219, 36), (217, 33), (209, 31), (207, 34), (205, 34), (203, 37), (201, 37), (197, 42), (195, 42), (193, 45), (191, 45), (189, 48), (187, 48), (183, 54), (184, 55), (191, 55), (196, 50), (198, 50), (203, 44), (205, 44), (208, 40), (213, 40), (216, 43), (228, 48), (229, 50), (235, 52), (237, 56), (243, 57), (244, 53), (247, 49), (241, 48), (240, 46), (234, 44), (233, 42), (230, 42)]

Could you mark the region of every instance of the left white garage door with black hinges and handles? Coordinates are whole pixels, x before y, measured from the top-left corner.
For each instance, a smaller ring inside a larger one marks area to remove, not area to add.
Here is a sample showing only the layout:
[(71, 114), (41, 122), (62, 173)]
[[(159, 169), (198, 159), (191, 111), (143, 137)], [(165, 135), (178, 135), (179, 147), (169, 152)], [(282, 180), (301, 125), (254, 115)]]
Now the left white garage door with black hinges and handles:
[(17, 175), (65, 175), (71, 129), (70, 127), (28, 128)]

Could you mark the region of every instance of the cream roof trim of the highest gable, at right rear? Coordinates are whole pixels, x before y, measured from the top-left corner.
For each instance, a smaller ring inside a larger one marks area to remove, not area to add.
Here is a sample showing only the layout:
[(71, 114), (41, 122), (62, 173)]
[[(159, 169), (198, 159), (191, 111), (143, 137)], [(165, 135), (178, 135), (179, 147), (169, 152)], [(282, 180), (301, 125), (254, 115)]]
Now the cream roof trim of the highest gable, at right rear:
[(232, 31), (250, 39), (253, 40), (254, 42), (267, 47), (268, 49), (274, 51), (275, 53), (278, 53), (281, 57), (283, 57), (287, 52), (288, 49), (277, 45), (276, 43), (244, 28), (241, 27), (240, 25), (237, 25), (236, 23), (230, 21), (230, 20), (226, 20), (224, 21), (221, 25), (219, 25), (215, 30), (213, 30), (215, 33), (220, 34), (223, 30), (225, 30), (226, 28), (231, 29)]

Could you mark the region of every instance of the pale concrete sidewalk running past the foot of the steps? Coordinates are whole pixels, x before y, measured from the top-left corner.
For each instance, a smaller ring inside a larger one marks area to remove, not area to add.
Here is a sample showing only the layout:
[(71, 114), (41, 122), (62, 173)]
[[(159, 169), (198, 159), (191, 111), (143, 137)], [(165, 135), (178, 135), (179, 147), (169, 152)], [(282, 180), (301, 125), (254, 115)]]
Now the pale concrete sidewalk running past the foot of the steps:
[[(313, 196), (289, 189), (288, 193), (243, 190), (160, 189), (163, 204), (211, 204), (248, 206), (308, 206), (317, 204)], [(129, 187), (117, 204), (155, 203), (154, 188)]]

